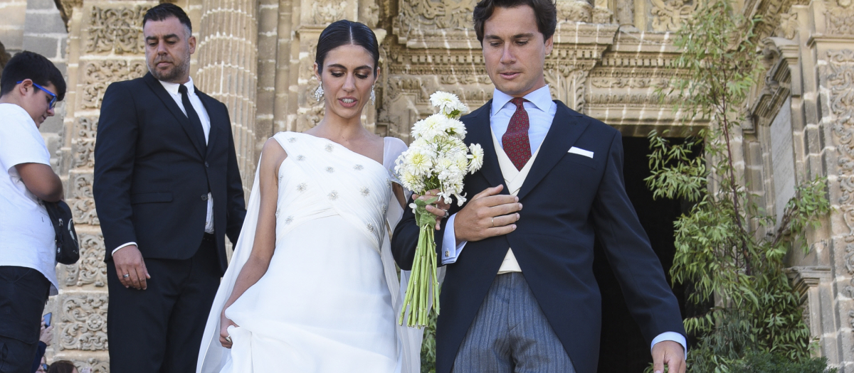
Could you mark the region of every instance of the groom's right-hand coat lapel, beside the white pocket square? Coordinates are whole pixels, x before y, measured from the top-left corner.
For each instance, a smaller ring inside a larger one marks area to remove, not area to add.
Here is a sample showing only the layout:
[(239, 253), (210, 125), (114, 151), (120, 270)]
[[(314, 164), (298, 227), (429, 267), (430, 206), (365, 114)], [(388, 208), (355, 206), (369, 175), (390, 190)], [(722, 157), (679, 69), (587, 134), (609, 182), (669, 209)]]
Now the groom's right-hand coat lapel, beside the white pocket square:
[(540, 152), (537, 154), (534, 164), (531, 165), (528, 177), (525, 178), (518, 197), (521, 200), (531, 189), (536, 186), (548, 171), (553, 169), (560, 158), (566, 155), (566, 151), (576, 143), (578, 137), (587, 129), (586, 121), (574, 120), (580, 114), (573, 112), (563, 102), (555, 100), (558, 111), (554, 114), (552, 127), (548, 129), (546, 139), (542, 141)]

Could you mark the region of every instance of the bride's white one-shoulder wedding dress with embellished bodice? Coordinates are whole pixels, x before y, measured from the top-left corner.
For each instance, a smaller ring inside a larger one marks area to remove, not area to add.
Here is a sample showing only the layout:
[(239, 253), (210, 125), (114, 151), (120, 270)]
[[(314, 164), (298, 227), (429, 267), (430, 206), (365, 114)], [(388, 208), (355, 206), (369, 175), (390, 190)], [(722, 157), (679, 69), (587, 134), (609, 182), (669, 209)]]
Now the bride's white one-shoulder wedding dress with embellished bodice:
[(390, 169), (406, 145), (385, 138), (378, 164), (313, 135), (273, 138), (288, 153), (278, 169), (276, 250), (264, 276), (225, 310), (240, 326), (229, 328), (231, 350), (222, 347), (219, 313), (254, 242), (256, 172), (196, 371), (418, 372), (422, 330), (397, 324), (401, 284), (388, 233), (403, 212)]

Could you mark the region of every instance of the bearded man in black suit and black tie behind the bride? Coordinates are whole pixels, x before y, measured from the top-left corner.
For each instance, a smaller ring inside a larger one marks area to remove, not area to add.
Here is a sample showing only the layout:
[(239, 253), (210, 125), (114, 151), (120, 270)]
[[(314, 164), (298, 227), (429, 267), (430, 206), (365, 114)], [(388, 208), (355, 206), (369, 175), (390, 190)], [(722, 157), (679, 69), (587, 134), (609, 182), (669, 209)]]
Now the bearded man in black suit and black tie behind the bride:
[(190, 78), (184, 10), (143, 18), (144, 77), (110, 84), (93, 185), (107, 246), (110, 368), (191, 372), (246, 209), (228, 110)]

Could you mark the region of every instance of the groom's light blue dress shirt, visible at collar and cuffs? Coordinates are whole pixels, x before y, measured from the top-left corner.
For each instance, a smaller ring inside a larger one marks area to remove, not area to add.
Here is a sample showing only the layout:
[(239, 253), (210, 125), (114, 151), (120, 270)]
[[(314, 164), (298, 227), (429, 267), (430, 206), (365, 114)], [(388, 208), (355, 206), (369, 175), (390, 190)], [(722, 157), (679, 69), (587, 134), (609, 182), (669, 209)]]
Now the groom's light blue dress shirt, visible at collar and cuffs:
[[(502, 145), (501, 137), (504, 136), (507, 126), (510, 125), (510, 118), (516, 112), (516, 105), (510, 102), (512, 98), (511, 95), (494, 89), (492, 107), (489, 110), (489, 127), (492, 129), (494, 141), (499, 146)], [(540, 149), (542, 141), (546, 139), (548, 129), (552, 128), (554, 116), (558, 112), (558, 104), (552, 100), (552, 93), (549, 91), (548, 85), (525, 95), (524, 99), (527, 101), (524, 102), (523, 106), (525, 112), (528, 112), (529, 118), (528, 139), (531, 146), (531, 154), (535, 154)], [(529, 162), (533, 161), (533, 159), (532, 157)], [(453, 214), (447, 218), (445, 232), (442, 235), (442, 264), (456, 262), (459, 254), (465, 248), (465, 241), (459, 243), (459, 245), (456, 244), (457, 238), (453, 230), (453, 221), (456, 216), (456, 214)], [(505, 261), (508, 261), (508, 257), (512, 257), (512, 251), (510, 250), (507, 252)], [(512, 261), (515, 261), (515, 258), (512, 258)], [(505, 265), (502, 263), (502, 268), (504, 267)], [(660, 341), (678, 342), (682, 345), (687, 357), (687, 341), (685, 340), (685, 336), (682, 336), (680, 333), (667, 331), (656, 336), (652, 340), (650, 349)]]

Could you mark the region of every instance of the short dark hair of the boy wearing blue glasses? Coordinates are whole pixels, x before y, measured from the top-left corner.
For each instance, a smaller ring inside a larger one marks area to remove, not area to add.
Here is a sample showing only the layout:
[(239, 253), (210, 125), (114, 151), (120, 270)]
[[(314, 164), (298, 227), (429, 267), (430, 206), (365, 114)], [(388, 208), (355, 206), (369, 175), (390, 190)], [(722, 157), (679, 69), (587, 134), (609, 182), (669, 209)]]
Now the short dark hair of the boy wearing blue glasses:
[(54, 66), (53, 62), (35, 52), (23, 51), (12, 57), (3, 67), (3, 75), (0, 76), (0, 96), (7, 95), (18, 82), (30, 79), (47, 88), (51, 83), (54, 85), (56, 100), (65, 98), (65, 79), (62, 73)]

